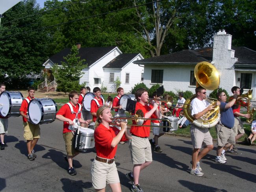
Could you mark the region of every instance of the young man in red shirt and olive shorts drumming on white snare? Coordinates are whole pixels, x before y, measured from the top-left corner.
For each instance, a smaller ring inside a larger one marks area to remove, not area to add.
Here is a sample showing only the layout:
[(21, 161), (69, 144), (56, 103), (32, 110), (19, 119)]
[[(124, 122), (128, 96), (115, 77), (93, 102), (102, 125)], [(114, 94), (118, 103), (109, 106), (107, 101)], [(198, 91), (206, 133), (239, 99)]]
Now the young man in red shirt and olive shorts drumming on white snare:
[[(65, 157), (65, 161), (67, 161), (69, 163), (69, 168), (68, 168), (68, 173), (70, 175), (76, 175), (76, 170), (73, 168), (73, 158), (79, 154), (78, 151), (75, 150), (74, 146), (73, 146), (73, 138), (74, 135), (72, 133), (72, 131), (69, 129), (70, 125), (74, 125), (73, 120), (75, 118), (78, 118), (80, 123), (84, 123), (84, 124), (89, 124), (90, 120), (83, 120), (81, 118), (81, 113), (79, 112), (79, 108), (81, 110), (80, 104), (78, 103), (78, 99), (79, 99), (79, 94), (78, 92), (76, 92), (75, 90), (71, 91), (69, 93), (69, 103), (66, 103), (65, 105), (63, 105), (58, 113), (56, 114), (56, 119), (63, 121), (63, 138), (65, 141), (65, 146), (66, 146), (66, 151), (67, 151), (67, 157)], [(70, 106), (72, 106), (72, 111), (74, 111), (75, 113), (71, 112), (71, 108)]]

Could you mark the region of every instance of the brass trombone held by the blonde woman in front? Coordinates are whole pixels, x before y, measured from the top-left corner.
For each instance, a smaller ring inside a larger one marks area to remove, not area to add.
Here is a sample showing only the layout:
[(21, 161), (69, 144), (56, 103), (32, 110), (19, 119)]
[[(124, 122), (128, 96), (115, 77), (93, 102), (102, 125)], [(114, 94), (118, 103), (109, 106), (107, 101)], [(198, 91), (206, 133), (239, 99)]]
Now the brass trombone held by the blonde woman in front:
[(117, 125), (118, 122), (120, 121), (125, 121), (125, 120), (134, 120), (136, 122), (136, 124), (127, 124), (130, 126), (140, 126), (140, 127), (153, 127), (151, 125), (143, 125), (144, 120), (163, 120), (169, 123), (169, 126), (158, 126), (158, 127), (169, 127), (171, 128), (171, 122), (168, 119), (152, 119), (152, 118), (144, 118), (144, 114), (143, 112), (139, 109), (138, 111), (136, 111), (135, 115), (132, 116), (126, 116), (126, 117), (111, 117), (112, 122), (110, 123), (110, 125)]

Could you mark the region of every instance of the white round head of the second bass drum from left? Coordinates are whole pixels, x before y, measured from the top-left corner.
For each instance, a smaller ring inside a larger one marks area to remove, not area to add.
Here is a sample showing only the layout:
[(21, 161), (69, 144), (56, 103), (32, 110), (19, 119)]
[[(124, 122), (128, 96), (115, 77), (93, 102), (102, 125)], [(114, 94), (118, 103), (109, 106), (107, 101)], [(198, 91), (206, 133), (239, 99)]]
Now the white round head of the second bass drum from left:
[(43, 106), (37, 100), (33, 99), (28, 105), (29, 121), (35, 125), (39, 124), (42, 118)]

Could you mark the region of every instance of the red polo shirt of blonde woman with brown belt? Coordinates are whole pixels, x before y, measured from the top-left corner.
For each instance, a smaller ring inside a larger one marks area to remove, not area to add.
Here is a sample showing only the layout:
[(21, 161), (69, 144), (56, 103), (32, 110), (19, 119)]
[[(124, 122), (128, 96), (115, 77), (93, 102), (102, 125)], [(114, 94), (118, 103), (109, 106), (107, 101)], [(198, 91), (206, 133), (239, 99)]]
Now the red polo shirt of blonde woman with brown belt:
[(96, 154), (98, 157), (113, 159), (117, 152), (117, 145), (111, 148), (111, 142), (115, 137), (115, 131), (109, 127), (99, 124), (94, 131)]

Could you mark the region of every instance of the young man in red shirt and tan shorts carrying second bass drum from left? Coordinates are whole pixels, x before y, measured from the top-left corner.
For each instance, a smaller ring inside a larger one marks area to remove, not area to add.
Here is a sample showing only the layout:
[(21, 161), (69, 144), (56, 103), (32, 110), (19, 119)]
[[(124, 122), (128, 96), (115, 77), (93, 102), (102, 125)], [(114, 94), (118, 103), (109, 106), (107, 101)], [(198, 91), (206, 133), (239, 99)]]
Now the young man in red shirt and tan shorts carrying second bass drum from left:
[(28, 97), (24, 99), (20, 106), (20, 115), (23, 120), (24, 138), (27, 140), (28, 159), (34, 160), (36, 158), (34, 147), (40, 138), (39, 124), (34, 125), (28, 122), (28, 103), (34, 99), (35, 88), (28, 88)]

